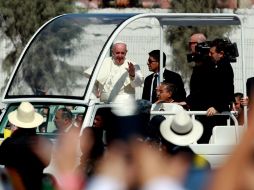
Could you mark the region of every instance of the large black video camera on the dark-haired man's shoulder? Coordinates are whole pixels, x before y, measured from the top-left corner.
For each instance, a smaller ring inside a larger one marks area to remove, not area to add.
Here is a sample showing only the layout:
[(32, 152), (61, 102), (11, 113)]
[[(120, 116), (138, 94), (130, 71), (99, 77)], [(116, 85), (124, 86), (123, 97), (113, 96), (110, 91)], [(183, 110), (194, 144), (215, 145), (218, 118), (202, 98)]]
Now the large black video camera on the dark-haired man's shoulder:
[(188, 62), (199, 62), (205, 61), (209, 58), (210, 48), (214, 46), (214, 44), (219, 44), (217, 46), (220, 47), (220, 50), (224, 52), (224, 58), (228, 59), (230, 62), (236, 62), (236, 57), (239, 56), (237, 44), (231, 43), (228, 38), (225, 39), (215, 39), (214, 41), (206, 41), (202, 43), (197, 43), (195, 47), (195, 53), (187, 54)]

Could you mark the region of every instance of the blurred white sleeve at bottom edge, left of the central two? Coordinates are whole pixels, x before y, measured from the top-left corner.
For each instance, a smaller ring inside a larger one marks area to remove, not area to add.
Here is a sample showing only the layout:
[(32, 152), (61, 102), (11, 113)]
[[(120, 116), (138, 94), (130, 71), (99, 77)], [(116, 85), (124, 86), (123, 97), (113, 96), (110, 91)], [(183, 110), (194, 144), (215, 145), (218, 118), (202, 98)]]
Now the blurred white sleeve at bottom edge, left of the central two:
[(86, 190), (127, 190), (126, 185), (108, 176), (95, 176), (87, 185)]

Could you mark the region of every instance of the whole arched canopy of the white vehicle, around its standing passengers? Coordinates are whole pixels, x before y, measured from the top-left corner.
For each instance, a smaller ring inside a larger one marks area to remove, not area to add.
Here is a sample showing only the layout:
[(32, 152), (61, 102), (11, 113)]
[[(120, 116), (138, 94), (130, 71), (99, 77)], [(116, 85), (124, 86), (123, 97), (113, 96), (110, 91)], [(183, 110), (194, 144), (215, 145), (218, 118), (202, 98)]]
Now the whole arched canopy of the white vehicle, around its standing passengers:
[[(234, 31), (241, 30), (241, 27), (238, 27), (241, 21), (232, 14), (63, 15), (46, 23), (28, 43), (4, 97), (9, 99), (8, 101), (17, 97), (54, 97), (65, 100), (75, 98), (85, 101), (95, 98), (97, 101), (97, 92), (92, 88), (99, 81), (101, 71), (105, 73), (101, 65), (105, 58), (112, 57), (110, 46), (118, 40), (127, 44), (126, 58), (138, 64), (144, 77), (151, 74), (147, 66), (148, 52), (154, 49), (166, 52), (166, 67), (182, 76), (188, 93), (189, 73), (182, 71), (190, 70), (190, 64), (179, 64), (186, 62), (188, 39), (185, 39), (185, 44), (175, 47), (185, 50), (179, 55), (182, 59), (175, 60), (172, 54), (176, 51), (172, 51), (172, 44), (169, 42), (171, 35), (174, 36), (174, 31), (179, 28), (182, 32), (194, 32), (193, 26), (199, 31), (199, 27), (224, 25), (236, 25)], [(210, 36), (210, 39), (217, 35)], [(237, 62), (241, 62), (241, 36), (232, 36), (230, 32), (223, 36), (237, 42), (240, 54)], [(233, 64), (233, 67), (234, 70), (244, 70), (241, 68), (242, 64)], [(89, 71), (88, 74), (86, 71)], [(239, 91), (244, 91), (241, 85), (238, 85), (244, 79), (241, 73), (235, 75), (235, 86)], [(136, 87), (136, 99), (142, 97), (142, 91), (142, 85)], [(91, 96), (88, 97), (87, 94)]]

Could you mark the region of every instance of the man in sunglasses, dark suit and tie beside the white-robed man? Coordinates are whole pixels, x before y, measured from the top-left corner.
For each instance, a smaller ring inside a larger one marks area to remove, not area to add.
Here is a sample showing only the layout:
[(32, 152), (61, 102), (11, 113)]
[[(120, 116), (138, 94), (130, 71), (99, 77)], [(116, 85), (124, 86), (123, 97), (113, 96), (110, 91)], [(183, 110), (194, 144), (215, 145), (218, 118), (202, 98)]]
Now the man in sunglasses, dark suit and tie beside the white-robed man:
[[(149, 71), (153, 73), (145, 78), (142, 99), (149, 100), (152, 103), (156, 101), (156, 87), (159, 85), (160, 70), (160, 50), (153, 50), (148, 53), (147, 61)], [(176, 102), (186, 100), (186, 92), (181, 76), (178, 73), (165, 69), (166, 54), (163, 52), (163, 82), (172, 83), (176, 86), (176, 93), (173, 99)]]

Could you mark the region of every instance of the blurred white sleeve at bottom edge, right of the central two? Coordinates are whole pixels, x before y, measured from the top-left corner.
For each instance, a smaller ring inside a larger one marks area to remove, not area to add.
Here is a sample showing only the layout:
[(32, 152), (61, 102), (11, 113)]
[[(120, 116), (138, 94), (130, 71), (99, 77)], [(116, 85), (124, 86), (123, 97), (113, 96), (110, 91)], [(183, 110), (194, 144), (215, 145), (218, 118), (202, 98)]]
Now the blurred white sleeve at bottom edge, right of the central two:
[(179, 182), (168, 177), (161, 177), (149, 181), (141, 190), (186, 190)]

